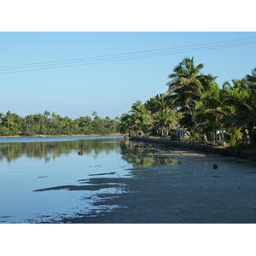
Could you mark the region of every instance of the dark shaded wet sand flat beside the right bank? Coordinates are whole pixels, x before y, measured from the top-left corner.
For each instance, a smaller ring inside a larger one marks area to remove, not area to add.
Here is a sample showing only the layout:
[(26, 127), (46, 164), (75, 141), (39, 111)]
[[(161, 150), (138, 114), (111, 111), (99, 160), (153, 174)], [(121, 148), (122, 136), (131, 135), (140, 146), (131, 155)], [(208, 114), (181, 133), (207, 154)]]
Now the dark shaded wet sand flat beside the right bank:
[[(65, 218), (63, 223), (256, 223), (255, 162), (177, 148), (160, 155), (180, 163), (131, 169), (122, 178), (91, 178), (90, 185), (114, 184), (123, 193), (99, 195), (94, 204), (106, 211)], [(115, 208), (109, 212), (109, 207)]]

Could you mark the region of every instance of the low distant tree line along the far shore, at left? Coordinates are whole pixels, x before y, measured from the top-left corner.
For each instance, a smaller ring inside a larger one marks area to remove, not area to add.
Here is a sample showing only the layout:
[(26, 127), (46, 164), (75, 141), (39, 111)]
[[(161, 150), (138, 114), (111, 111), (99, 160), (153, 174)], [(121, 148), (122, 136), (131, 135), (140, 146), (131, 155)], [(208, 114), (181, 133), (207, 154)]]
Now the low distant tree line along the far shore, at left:
[(96, 112), (92, 116), (71, 119), (56, 113), (29, 114), (25, 118), (8, 111), (0, 113), (1, 136), (34, 136), (34, 135), (73, 135), (73, 134), (113, 134), (119, 133), (119, 118), (101, 119)]

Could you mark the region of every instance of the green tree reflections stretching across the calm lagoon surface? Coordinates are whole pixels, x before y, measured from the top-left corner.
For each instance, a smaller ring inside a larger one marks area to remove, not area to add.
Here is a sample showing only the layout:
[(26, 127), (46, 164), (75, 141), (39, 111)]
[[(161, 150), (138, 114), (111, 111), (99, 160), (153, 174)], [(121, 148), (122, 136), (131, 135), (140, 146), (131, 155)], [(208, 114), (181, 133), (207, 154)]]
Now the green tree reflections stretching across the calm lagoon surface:
[(123, 137), (56, 142), (0, 143), (0, 161), (11, 162), (26, 156), (29, 159), (35, 158), (48, 162), (73, 151), (82, 152), (80, 155), (93, 154), (94, 159), (96, 159), (98, 154), (102, 152), (108, 154), (113, 150), (119, 151), (122, 154), (122, 159), (133, 164), (135, 168), (176, 165), (178, 163), (177, 160), (165, 156), (160, 148), (155, 148), (150, 144), (125, 142)]

